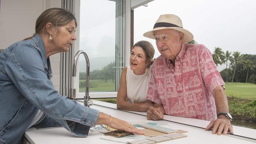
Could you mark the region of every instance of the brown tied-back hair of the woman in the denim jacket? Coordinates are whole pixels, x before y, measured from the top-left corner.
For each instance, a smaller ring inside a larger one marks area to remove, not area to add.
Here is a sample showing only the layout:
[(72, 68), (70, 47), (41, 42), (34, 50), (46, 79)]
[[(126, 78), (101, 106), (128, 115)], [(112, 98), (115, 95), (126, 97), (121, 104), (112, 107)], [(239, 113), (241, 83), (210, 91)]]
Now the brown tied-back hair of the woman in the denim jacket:
[[(41, 15), (37, 18), (35, 22), (35, 34), (41, 35), (45, 32), (45, 26), (48, 22), (51, 22), (53, 26), (58, 28), (59, 26), (64, 26), (70, 21), (74, 20), (77, 26), (76, 18), (68, 9), (62, 8), (50, 8), (46, 9)], [(31, 39), (32, 37), (28, 37), (24, 40)]]

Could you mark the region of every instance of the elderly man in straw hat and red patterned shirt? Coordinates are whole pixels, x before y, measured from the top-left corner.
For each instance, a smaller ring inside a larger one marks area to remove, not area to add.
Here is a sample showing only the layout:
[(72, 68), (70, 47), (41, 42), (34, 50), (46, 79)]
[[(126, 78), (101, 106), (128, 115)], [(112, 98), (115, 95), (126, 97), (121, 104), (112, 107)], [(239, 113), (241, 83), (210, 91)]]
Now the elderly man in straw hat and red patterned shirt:
[(148, 120), (163, 114), (211, 121), (212, 133), (233, 133), (228, 102), (221, 78), (202, 44), (187, 44), (193, 35), (183, 28), (176, 15), (161, 15), (154, 29), (144, 33), (155, 39), (160, 56), (152, 65), (147, 99), (155, 102), (147, 111)]

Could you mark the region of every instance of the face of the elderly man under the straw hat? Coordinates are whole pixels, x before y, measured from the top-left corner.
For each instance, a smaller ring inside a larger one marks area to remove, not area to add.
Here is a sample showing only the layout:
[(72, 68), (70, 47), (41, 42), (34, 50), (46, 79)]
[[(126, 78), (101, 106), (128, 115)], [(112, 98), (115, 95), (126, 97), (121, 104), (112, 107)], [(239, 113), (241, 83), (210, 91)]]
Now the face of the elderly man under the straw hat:
[(174, 61), (182, 47), (183, 33), (176, 30), (164, 29), (154, 31), (153, 35), (160, 54)]

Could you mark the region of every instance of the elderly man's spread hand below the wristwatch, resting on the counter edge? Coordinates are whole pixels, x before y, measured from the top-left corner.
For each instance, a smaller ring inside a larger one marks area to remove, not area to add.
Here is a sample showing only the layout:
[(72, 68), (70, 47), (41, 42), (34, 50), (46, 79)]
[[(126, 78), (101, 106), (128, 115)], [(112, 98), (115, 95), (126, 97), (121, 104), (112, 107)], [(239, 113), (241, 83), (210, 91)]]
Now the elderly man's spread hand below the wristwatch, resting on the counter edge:
[(212, 134), (217, 132), (217, 135), (221, 135), (223, 133), (226, 135), (228, 131), (233, 134), (233, 127), (231, 125), (230, 120), (228, 120), (225, 116), (219, 116), (216, 120), (210, 122), (210, 124), (205, 128), (206, 131), (212, 129)]

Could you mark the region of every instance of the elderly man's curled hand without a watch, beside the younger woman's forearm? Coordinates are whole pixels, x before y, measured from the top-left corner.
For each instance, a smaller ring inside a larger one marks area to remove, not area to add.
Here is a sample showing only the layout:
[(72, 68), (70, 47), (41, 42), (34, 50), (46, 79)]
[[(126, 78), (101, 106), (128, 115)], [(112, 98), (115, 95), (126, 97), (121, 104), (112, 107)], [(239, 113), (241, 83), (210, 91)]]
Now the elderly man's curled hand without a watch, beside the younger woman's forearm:
[(147, 119), (148, 120), (161, 120), (165, 110), (163, 109), (162, 104), (155, 103), (153, 106), (148, 108)]

